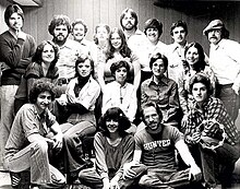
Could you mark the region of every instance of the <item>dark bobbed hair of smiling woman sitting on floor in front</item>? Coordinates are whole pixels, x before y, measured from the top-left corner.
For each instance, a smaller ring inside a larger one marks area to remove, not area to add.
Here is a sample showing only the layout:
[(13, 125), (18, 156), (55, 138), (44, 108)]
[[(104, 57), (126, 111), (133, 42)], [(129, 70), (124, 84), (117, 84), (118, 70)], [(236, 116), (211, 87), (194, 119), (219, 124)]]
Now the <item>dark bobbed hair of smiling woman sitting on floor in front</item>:
[(99, 129), (101, 130), (103, 134), (109, 137), (110, 133), (107, 129), (106, 121), (107, 120), (117, 120), (119, 122), (118, 132), (119, 135), (124, 137), (128, 133), (125, 132), (127, 129), (131, 127), (131, 122), (129, 118), (124, 115), (124, 113), (119, 107), (111, 107), (109, 108), (104, 116), (99, 119)]

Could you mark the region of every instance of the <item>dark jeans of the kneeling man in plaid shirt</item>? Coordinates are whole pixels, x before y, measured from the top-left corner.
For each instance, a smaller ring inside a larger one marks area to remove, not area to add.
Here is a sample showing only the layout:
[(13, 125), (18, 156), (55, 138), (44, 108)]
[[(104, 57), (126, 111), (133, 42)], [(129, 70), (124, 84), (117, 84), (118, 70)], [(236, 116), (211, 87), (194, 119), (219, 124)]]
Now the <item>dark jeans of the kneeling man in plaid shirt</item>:
[(235, 163), (240, 156), (240, 145), (235, 146), (224, 143), (223, 146), (212, 151), (200, 147), (203, 167), (203, 177), (208, 187), (221, 184), (229, 187)]

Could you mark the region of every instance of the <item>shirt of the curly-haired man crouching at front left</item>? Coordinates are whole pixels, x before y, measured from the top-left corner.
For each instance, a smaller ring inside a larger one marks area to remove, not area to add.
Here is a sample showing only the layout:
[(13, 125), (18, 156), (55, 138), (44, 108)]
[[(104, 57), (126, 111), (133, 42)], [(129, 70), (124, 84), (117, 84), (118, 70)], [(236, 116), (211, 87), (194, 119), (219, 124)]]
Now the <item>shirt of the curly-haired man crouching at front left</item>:
[(11, 156), (29, 144), (27, 138), (38, 133), (47, 135), (50, 127), (56, 123), (56, 117), (46, 110), (43, 114), (37, 111), (35, 104), (25, 104), (17, 111), (12, 129), (5, 144), (5, 157)]

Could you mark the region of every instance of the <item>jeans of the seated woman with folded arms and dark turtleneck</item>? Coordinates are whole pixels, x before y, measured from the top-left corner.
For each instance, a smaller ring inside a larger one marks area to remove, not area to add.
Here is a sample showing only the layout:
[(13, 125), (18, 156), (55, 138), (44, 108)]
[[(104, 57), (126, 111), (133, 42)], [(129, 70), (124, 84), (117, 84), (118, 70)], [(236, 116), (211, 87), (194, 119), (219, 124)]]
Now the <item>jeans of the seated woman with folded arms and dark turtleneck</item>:
[(82, 139), (86, 135), (94, 135), (96, 126), (89, 121), (81, 121), (76, 125), (63, 123), (60, 127), (67, 151), (68, 172), (72, 173), (85, 165)]

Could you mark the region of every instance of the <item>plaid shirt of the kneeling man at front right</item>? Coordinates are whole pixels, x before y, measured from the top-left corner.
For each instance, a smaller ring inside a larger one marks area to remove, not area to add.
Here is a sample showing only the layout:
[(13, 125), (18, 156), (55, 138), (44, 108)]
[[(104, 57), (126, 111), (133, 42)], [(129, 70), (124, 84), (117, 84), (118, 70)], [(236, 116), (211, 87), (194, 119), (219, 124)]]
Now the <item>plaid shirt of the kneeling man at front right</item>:
[[(199, 126), (204, 120), (215, 120), (224, 125), (227, 143), (235, 145), (239, 142), (238, 129), (235, 126), (230, 116), (228, 115), (226, 108), (224, 107), (224, 104), (218, 98), (209, 97), (208, 101), (203, 104), (203, 109), (199, 109), (197, 105), (194, 104), (193, 109), (190, 110), (190, 114), (188, 115), (188, 123), (184, 132), (187, 143), (189, 144), (196, 143), (195, 141), (189, 140), (188, 137), (191, 137), (192, 133), (197, 132)], [(216, 133), (217, 131), (219, 131), (219, 128), (216, 128), (215, 126), (216, 125), (212, 125), (206, 130), (207, 132), (205, 132), (205, 134), (211, 138), (216, 138)]]

